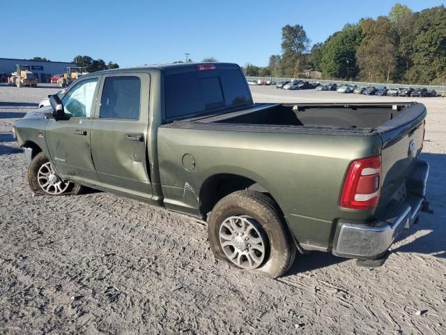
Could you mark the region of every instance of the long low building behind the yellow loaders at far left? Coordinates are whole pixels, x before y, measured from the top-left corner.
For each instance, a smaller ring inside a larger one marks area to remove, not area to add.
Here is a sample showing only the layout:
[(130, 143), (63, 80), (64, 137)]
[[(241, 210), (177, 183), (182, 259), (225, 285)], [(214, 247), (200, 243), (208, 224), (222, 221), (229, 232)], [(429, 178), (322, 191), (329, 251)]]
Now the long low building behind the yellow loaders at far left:
[(39, 82), (49, 82), (52, 75), (66, 73), (67, 67), (77, 66), (76, 63), (66, 61), (28, 61), (26, 59), (0, 58), (0, 73), (11, 75), (15, 71), (15, 64), (29, 65), (31, 72), (38, 77)]

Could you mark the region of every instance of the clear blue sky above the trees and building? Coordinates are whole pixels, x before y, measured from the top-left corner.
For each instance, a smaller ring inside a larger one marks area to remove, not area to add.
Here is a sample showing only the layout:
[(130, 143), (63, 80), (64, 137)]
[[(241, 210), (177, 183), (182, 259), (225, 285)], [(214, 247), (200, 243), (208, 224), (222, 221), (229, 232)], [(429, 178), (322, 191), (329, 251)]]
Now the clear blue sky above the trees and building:
[[(413, 11), (446, 5), (439, 0), (398, 2)], [(302, 24), (312, 43), (318, 43), (346, 23), (387, 15), (395, 3), (0, 0), (0, 57), (72, 61), (81, 54), (128, 67), (184, 60), (188, 52), (193, 61), (213, 56), (240, 66), (266, 66), (271, 54), (281, 53), (286, 24)]]

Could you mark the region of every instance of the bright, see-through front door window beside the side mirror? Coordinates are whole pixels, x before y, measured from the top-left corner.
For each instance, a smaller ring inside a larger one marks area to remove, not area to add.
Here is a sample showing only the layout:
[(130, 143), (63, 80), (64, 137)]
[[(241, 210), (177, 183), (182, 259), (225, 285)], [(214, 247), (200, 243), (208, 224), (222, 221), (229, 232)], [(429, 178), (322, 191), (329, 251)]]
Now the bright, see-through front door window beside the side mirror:
[(98, 78), (78, 82), (63, 96), (63, 109), (71, 117), (90, 117)]

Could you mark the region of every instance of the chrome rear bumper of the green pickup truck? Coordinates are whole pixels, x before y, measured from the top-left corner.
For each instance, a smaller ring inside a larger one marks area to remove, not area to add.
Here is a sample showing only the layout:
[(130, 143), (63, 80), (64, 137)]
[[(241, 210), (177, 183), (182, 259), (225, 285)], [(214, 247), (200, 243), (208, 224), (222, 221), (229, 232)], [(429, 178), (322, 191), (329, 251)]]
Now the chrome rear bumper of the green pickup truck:
[(418, 161), (406, 183), (405, 202), (390, 202), (378, 214), (376, 221), (368, 224), (339, 220), (334, 234), (332, 253), (346, 258), (380, 258), (392, 245), (403, 228), (410, 228), (417, 220), (426, 194), (429, 164)]

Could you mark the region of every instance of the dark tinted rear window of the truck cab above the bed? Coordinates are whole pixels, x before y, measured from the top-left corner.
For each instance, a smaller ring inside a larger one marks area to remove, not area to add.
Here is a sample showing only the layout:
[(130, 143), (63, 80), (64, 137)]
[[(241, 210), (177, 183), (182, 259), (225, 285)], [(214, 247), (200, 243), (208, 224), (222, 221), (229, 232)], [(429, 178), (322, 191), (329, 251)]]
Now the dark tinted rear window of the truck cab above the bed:
[(166, 75), (166, 117), (185, 117), (251, 103), (240, 70), (197, 70)]

